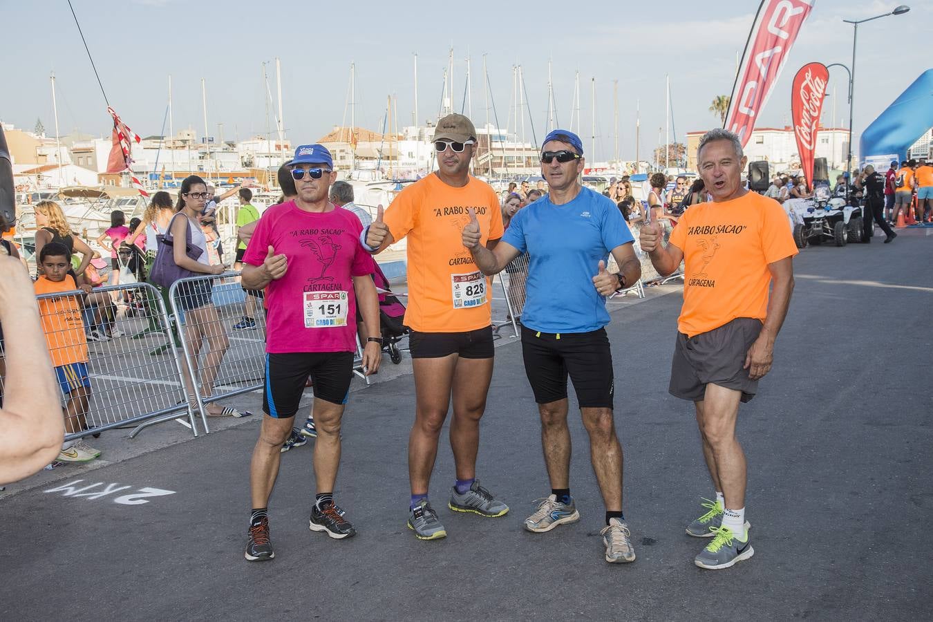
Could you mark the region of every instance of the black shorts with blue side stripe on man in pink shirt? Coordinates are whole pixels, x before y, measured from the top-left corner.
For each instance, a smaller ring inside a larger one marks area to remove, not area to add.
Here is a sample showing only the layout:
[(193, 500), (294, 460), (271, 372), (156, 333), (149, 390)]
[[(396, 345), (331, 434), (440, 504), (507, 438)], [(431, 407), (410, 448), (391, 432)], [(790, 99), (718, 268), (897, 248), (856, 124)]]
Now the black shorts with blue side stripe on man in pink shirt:
[(294, 417), (309, 376), (314, 382), (314, 397), (331, 404), (346, 404), (353, 380), (353, 359), (353, 352), (266, 354), (262, 410), (276, 419)]

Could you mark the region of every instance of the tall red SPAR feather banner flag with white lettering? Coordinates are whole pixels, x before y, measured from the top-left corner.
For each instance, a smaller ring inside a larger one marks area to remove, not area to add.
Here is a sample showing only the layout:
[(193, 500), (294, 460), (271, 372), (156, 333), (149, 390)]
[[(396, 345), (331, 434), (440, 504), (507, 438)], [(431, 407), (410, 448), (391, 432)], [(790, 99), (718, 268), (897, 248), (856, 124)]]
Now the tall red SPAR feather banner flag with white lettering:
[(748, 143), (755, 121), (781, 75), (787, 53), (816, 0), (762, 0), (735, 76), (726, 128)]

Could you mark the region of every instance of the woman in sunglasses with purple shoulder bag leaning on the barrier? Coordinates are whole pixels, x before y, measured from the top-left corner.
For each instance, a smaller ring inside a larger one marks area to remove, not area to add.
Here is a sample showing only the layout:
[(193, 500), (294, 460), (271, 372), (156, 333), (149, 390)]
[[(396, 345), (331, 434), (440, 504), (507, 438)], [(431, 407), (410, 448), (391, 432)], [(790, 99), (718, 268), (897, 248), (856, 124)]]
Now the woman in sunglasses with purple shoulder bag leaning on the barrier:
[[(223, 264), (212, 266), (208, 260), (207, 239), (201, 228), (201, 213), (204, 208), (204, 201), (210, 198), (207, 191), (207, 185), (198, 175), (191, 175), (185, 178), (181, 183), (181, 189), (178, 192), (178, 203), (175, 205), (175, 215), (172, 222), (169, 223), (169, 231), (174, 240), (172, 248), (172, 257), (178, 268), (194, 272), (196, 275), (204, 274), (223, 274), (227, 267)], [(201, 249), (201, 255), (197, 259), (188, 256), (187, 244), (184, 241), (190, 240), (191, 246)], [(207, 350), (203, 358), (203, 364), (200, 369), (201, 376), (201, 394), (204, 397), (210, 397), (214, 394), (214, 380), (217, 372), (220, 370), (220, 363), (223, 361), (224, 354), (230, 347), (230, 340), (227, 339), (227, 331), (220, 323), (220, 317), (217, 315), (216, 307), (211, 300), (213, 283), (211, 281), (194, 281), (180, 283), (175, 291), (175, 304), (178, 310), (184, 313), (183, 322), (184, 334), (182, 339), (188, 346), (188, 354), (191, 361), (194, 362), (195, 374), (199, 373), (197, 361), (200, 360), (204, 342), (207, 342)], [(187, 368), (186, 375), (187, 375)], [(197, 390), (197, 380), (191, 379), (188, 384), (188, 395), (193, 400), (193, 391)], [(240, 416), (236, 408), (221, 407), (216, 403), (208, 404), (205, 409), (208, 417), (223, 417), (227, 415)]]

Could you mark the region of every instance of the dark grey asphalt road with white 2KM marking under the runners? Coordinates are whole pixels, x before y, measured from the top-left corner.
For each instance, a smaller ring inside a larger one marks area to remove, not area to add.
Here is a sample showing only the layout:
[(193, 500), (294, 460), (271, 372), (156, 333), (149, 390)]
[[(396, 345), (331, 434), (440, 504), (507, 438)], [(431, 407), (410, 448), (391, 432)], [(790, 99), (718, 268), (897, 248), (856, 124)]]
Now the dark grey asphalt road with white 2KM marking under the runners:
[(513, 344), (496, 349), (479, 461), (483, 484), (511, 505), (506, 517), (440, 509), (453, 482), (445, 442), (431, 492), (449, 537), (420, 542), (405, 528), (414, 392), (402, 376), (355, 392), (347, 409), (336, 498), (355, 538), (307, 528), (309, 443), (283, 456), (275, 560), (244, 560), (258, 421), (244, 422), (96, 470), (69, 465), (73, 478), (0, 500), (0, 619), (929, 619), (933, 240), (924, 233), (809, 248), (795, 261), (773, 371), (742, 409), (756, 555), (731, 570), (695, 567), (705, 543), (684, 533), (713, 491), (692, 407), (666, 392), (680, 304), (669, 295), (625, 306), (608, 326), (633, 564), (603, 560), (603, 508), (578, 417), (571, 484), (582, 520), (522, 532), (549, 486)]

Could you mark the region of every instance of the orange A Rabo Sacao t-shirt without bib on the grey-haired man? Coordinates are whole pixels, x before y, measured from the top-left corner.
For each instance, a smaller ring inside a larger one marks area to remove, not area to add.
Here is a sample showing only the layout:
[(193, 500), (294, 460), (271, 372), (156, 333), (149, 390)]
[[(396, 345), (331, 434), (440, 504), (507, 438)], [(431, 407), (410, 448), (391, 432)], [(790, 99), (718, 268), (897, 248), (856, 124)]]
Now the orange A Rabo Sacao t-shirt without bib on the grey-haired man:
[(684, 306), (677, 329), (688, 337), (737, 317), (768, 313), (768, 264), (797, 255), (780, 203), (754, 192), (691, 205), (671, 233), (683, 250)]

